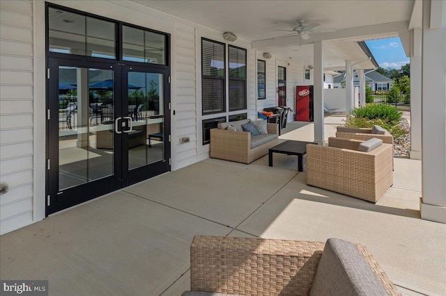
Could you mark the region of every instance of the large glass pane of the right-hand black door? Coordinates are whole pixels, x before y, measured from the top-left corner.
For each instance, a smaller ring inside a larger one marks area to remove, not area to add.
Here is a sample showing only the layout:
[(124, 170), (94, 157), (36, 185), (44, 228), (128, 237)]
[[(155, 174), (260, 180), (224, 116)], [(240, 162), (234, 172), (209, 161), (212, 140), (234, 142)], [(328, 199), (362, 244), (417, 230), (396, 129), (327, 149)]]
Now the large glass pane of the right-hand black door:
[(164, 75), (128, 72), (128, 169), (164, 160)]

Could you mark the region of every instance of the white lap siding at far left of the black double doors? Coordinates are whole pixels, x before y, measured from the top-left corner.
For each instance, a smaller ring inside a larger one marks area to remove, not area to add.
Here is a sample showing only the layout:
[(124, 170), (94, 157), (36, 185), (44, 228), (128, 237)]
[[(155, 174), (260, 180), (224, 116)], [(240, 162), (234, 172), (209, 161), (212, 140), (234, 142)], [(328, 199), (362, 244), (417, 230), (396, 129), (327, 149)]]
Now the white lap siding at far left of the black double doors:
[(0, 234), (33, 222), (33, 2), (0, 1)]

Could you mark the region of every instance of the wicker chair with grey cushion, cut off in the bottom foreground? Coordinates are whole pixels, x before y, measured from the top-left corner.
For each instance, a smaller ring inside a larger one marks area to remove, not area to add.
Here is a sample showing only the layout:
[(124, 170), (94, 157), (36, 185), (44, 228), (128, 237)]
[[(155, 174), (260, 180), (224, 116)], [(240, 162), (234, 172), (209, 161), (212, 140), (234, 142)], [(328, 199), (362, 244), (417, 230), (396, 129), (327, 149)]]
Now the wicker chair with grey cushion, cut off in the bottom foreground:
[(364, 245), (195, 236), (190, 291), (208, 295), (401, 295)]

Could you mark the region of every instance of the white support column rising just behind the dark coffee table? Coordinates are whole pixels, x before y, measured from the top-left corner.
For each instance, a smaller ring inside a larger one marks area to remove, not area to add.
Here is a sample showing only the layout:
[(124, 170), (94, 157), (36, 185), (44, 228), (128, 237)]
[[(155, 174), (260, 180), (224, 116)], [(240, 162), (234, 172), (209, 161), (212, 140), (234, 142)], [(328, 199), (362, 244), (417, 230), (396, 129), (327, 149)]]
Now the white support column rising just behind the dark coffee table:
[(314, 42), (314, 87), (313, 87), (313, 108), (314, 108), (314, 142), (318, 145), (324, 144), (323, 126), (323, 47), (322, 41)]

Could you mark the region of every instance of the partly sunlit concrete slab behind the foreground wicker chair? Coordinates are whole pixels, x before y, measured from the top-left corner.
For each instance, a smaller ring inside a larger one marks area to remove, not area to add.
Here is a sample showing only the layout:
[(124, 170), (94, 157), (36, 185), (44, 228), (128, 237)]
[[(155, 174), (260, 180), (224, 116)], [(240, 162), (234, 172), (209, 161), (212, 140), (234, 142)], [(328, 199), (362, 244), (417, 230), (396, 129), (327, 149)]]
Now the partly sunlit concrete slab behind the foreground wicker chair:
[(305, 173), (295, 176), (237, 229), (262, 238), (360, 242), (399, 286), (444, 294), (444, 224), (420, 220), (417, 211), (312, 188), (304, 178)]

